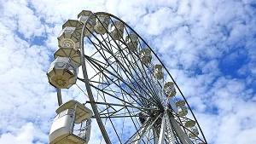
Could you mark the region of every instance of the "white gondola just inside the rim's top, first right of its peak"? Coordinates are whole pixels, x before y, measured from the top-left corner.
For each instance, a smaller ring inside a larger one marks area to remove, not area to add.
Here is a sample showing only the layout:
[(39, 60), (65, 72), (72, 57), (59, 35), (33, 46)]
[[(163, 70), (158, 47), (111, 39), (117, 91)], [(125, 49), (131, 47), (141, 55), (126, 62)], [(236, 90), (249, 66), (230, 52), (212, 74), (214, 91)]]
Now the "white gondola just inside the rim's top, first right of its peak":
[(98, 14), (94, 30), (97, 34), (105, 34), (108, 31), (110, 17), (106, 14)]

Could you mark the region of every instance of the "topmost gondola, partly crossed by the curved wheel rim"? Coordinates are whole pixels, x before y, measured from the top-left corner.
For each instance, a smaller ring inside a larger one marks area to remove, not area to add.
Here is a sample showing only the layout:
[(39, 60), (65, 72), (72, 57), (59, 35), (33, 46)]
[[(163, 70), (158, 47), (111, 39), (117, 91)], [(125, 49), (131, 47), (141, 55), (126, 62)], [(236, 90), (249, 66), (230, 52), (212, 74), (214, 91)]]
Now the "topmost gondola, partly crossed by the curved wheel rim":
[[(78, 14), (79, 22), (81, 22), (81, 23), (84, 24), (84, 23), (86, 22), (86, 20), (88, 20), (88, 18), (90, 17), (91, 14), (92, 14), (92, 12), (91, 12), (90, 10), (83, 10), (83, 11), (81, 11), (81, 12)], [(95, 18), (95, 17), (93, 17), (93, 18), (91, 18), (90, 20), (87, 21), (86, 27), (87, 27), (87, 29), (88, 29), (89, 31), (86, 29), (86, 31), (84, 32), (84, 36), (85, 36), (85, 37), (90, 36), (90, 33), (93, 32), (93, 30), (94, 30), (94, 25), (95, 25), (95, 21), (96, 21), (96, 18)]]

